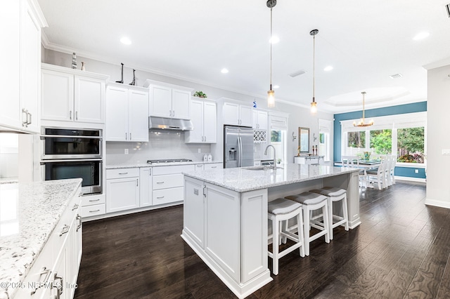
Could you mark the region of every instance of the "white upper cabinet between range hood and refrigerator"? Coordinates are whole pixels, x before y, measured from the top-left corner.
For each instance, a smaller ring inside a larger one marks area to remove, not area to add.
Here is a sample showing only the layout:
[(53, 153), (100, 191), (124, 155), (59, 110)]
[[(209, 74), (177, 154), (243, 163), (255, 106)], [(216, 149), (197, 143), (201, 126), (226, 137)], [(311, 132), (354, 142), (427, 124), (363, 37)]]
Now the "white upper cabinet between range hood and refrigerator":
[(186, 143), (217, 142), (217, 105), (211, 100), (191, 100), (192, 131), (184, 133)]

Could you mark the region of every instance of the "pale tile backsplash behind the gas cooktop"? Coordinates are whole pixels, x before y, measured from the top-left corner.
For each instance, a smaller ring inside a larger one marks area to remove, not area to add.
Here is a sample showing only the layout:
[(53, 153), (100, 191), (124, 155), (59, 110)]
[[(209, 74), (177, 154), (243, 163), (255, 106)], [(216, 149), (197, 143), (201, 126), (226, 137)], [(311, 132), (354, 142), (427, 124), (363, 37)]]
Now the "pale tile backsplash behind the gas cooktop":
[[(124, 154), (125, 149), (129, 154)], [(200, 154), (198, 154), (200, 149)], [(183, 131), (149, 131), (148, 142), (106, 142), (106, 164), (146, 163), (155, 159), (202, 161), (211, 152), (210, 144), (186, 144)], [(213, 161), (222, 157), (213, 157)]]

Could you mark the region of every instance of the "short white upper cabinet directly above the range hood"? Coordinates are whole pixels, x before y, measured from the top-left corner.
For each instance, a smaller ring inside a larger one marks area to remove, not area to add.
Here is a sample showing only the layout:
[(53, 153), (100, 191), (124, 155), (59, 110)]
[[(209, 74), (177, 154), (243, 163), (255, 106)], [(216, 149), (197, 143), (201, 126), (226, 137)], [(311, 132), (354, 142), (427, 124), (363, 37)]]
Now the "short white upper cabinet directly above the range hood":
[(152, 80), (147, 80), (144, 86), (149, 88), (148, 113), (150, 116), (191, 119), (192, 88), (164, 84)]

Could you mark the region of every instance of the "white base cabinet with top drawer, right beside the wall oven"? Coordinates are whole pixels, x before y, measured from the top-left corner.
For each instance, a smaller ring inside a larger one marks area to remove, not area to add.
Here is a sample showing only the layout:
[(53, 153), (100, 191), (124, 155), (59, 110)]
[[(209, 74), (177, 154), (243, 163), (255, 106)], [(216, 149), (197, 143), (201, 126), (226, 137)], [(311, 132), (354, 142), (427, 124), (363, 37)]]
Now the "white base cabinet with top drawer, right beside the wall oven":
[(106, 170), (106, 213), (139, 208), (139, 168)]

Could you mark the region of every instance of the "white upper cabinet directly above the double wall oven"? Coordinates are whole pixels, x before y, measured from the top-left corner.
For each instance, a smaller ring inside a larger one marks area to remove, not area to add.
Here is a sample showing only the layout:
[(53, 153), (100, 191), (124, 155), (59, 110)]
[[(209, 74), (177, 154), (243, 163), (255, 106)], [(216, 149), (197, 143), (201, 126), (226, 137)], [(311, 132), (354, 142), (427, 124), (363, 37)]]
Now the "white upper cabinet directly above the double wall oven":
[(67, 123), (105, 122), (105, 84), (108, 76), (47, 65), (42, 69), (41, 119)]

